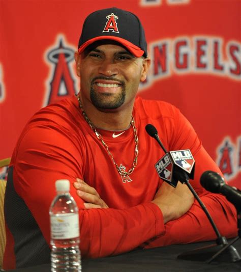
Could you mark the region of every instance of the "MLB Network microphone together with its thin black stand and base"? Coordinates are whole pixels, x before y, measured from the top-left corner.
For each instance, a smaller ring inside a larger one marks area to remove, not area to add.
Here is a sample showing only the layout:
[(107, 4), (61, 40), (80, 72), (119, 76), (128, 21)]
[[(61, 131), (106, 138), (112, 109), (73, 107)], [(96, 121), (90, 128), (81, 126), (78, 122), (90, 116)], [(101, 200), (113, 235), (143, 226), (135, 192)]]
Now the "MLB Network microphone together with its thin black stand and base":
[(145, 126), (145, 130), (150, 135), (150, 137), (153, 137), (158, 142), (158, 144), (165, 152), (165, 155), (155, 165), (159, 177), (164, 181), (168, 182), (173, 187), (176, 187), (178, 181), (186, 183), (188, 188), (194, 195), (195, 199), (205, 212), (210, 224), (212, 225), (217, 235), (216, 244), (180, 254), (177, 256), (177, 258), (183, 260), (206, 261), (207, 258), (212, 257), (208, 260), (208, 262), (211, 262), (215, 258), (217, 259), (220, 251), (226, 250), (227, 247), (227, 256), (222, 255), (222, 258), (220, 258), (219, 261), (230, 261), (230, 259), (232, 261), (240, 260), (236, 249), (234, 249), (231, 245), (228, 245), (226, 237), (221, 236), (206, 206), (203, 204), (203, 202), (195, 192), (194, 188), (189, 183), (189, 178), (194, 178), (195, 166), (195, 160), (192, 156), (191, 151), (189, 149), (186, 149), (167, 152), (161, 140), (159, 139), (157, 129), (153, 125), (148, 124)]

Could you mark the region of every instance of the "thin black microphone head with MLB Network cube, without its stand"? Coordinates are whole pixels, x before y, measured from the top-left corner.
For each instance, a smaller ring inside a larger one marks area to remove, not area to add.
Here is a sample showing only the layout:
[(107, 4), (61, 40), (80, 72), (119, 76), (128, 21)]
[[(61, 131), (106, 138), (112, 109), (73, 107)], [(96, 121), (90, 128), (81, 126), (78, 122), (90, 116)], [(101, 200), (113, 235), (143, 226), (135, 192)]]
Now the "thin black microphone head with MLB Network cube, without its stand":
[(165, 155), (155, 165), (159, 177), (173, 187), (176, 187), (178, 181), (186, 183), (189, 178), (193, 179), (195, 160), (191, 151), (186, 149), (167, 152), (158, 136), (156, 127), (148, 124), (145, 126), (145, 130), (165, 152)]

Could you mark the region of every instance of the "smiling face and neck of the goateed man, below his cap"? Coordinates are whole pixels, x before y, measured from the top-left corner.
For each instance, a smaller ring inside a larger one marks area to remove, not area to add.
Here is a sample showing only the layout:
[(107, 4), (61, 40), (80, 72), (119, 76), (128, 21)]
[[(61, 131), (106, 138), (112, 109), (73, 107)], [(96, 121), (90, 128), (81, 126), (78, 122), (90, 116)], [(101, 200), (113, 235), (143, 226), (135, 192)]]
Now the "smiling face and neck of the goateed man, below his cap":
[[(77, 74), (81, 78), (79, 97), (89, 119), (101, 128), (126, 129), (130, 125), (139, 83), (146, 78), (149, 58), (135, 57), (116, 41), (101, 40), (87, 48), (80, 47), (75, 60)], [(109, 115), (100, 112), (108, 112)], [(104, 116), (118, 116), (122, 124), (117, 120), (110, 124)]]

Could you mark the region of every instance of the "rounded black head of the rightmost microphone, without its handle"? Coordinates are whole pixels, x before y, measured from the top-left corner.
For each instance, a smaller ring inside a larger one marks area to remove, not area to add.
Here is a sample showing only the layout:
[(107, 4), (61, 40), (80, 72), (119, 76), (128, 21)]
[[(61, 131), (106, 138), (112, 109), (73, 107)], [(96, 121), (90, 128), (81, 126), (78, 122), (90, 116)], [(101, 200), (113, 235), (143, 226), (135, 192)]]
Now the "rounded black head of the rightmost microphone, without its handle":
[(214, 171), (205, 171), (200, 178), (203, 188), (212, 193), (220, 193), (220, 187), (225, 184), (224, 179)]

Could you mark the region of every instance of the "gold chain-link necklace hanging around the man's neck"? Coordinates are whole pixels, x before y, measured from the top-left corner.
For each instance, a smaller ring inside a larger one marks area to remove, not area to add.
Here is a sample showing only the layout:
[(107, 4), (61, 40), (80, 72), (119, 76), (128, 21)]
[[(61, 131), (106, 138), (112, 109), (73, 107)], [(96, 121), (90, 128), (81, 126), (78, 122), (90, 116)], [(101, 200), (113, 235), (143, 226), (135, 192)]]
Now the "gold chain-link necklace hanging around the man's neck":
[(114, 166), (116, 167), (118, 173), (123, 176), (123, 177), (126, 177), (126, 176), (129, 176), (132, 174), (132, 172), (134, 171), (135, 167), (137, 166), (137, 158), (138, 158), (138, 136), (137, 136), (137, 129), (136, 129), (136, 126), (135, 126), (135, 121), (134, 121), (134, 118), (133, 116), (131, 117), (131, 125), (133, 127), (133, 131), (134, 131), (134, 140), (135, 140), (135, 158), (134, 158), (134, 161), (133, 161), (133, 164), (132, 164), (132, 168), (126, 172), (126, 171), (123, 171), (123, 170), (120, 170), (120, 167), (116, 164), (115, 160), (114, 160), (114, 157), (113, 155), (111, 154), (111, 152), (109, 151), (109, 148), (107, 146), (107, 144), (104, 142), (101, 134), (96, 130), (95, 126), (92, 124), (91, 120), (89, 120), (89, 118), (87, 117), (84, 109), (83, 109), (83, 106), (82, 106), (82, 103), (80, 101), (80, 98), (79, 96), (77, 96), (78, 100), (79, 100), (79, 107), (81, 109), (81, 112), (83, 114), (83, 117), (85, 119), (85, 121), (89, 124), (89, 126), (91, 127), (91, 129), (95, 132), (96, 134), (96, 137), (101, 141), (102, 145), (105, 147), (105, 149), (107, 150), (108, 152), (108, 155), (110, 156), (110, 158), (112, 159), (113, 161), (113, 164)]

